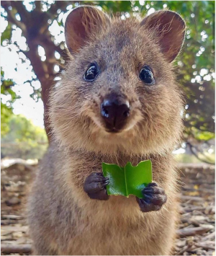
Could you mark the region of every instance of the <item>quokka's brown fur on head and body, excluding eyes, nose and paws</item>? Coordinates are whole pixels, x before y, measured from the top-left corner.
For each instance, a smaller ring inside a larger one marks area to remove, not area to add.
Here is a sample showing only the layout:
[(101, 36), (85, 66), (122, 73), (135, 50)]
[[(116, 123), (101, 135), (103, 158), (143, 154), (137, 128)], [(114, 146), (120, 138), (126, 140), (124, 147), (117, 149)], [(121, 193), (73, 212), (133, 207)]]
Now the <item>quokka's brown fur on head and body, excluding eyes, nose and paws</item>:
[[(89, 15), (86, 19), (91, 21)], [(75, 45), (76, 53), (53, 89), (50, 119), (55, 141), (41, 164), (29, 203), (34, 254), (169, 255), (178, 219), (178, 174), (171, 151), (181, 135), (182, 102), (168, 59), (181, 47), (174, 45), (170, 56), (163, 52), (161, 34), (149, 19), (142, 25), (136, 19), (100, 20), (100, 32), (88, 37), (86, 44), (78, 39), (80, 50), (77, 42), (68, 45), (71, 52)], [(83, 76), (92, 61), (101, 74), (88, 83)], [(151, 87), (138, 77), (145, 63), (156, 79)], [(131, 106), (121, 133), (104, 131), (100, 118), (101, 102), (111, 92)], [(145, 159), (152, 160), (153, 180), (168, 196), (160, 211), (142, 213), (134, 196), (102, 201), (84, 192), (84, 180), (101, 172), (102, 162), (124, 166)]]

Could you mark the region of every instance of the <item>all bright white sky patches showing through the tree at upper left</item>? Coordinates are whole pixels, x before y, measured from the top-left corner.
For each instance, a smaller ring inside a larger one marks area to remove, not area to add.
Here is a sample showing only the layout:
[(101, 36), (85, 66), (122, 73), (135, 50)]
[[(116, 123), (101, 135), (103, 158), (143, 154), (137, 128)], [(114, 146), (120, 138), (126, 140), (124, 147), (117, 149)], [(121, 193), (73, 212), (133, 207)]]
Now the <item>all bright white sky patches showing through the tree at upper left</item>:
[[(50, 1), (51, 3), (52, 1)], [(27, 10), (30, 12), (32, 9), (32, 4), (29, 1), (24, 1), (24, 4)], [(72, 5), (68, 6), (68, 12), (65, 14), (60, 13), (58, 16), (58, 21), (63, 19), (63, 23), (66, 20), (66, 17), (70, 10), (72, 9)], [(46, 11), (46, 9), (44, 9)], [(1, 7), (1, 13), (6, 14), (4, 9)], [(19, 15), (16, 16), (17, 20), (20, 20)], [(4, 17), (1, 17), (1, 33), (6, 29), (8, 22)], [(12, 32), (12, 43), (15, 41), (19, 45), (21, 50), (27, 50), (27, 44), (24, 37), (22, 37), (22, 30), (19, 27), (13, 26)], [(54, 21), (50, 25), (50, 32), (55, 36), (55, 42), (60, 43), (64, 41), (64, 30), (63, 27), (58, 25), (57, 21)], [(44, 128), (43, 125), (43, 103), (42, 100), (39, 99), (37, 102), (30, 97), (30, 94), (33, 93), (33, 88), (39, 89), (40, 81), (33, 81), (32, 86), (27, 80), (36, 79), (34, 71), (32, 70), (32, 66), (30, 61), (24, 56), (23, 53), (18, 53), (18, 48), (14, 44), (10, 44), (8, 42), (3, 42), (1, 47), (1, 69), (4, 71), (4, 79), (12, 79), (14, 81), (14, 87), (12, 87), (13, 91), (20, 97), (20, 99), (16, 100), (12, 107), (13, 112), (16, 115), (22, 114), (27, 119), (32, 120), (37, 126)], [(38, 54), (42, 61), (45, 61), (45, 50), (40, 46), (38, 48)], [(60, 58), (58, 53), (55, 53), (56, 58)], [(17, 70), (17, 71), (16, 71)], [(59, 71), (59, 67), (56, 65), (54, 70), (56, 72)], [(1, 95), (2, 102), (6, 104), (7, 100), (10, 100), (10, 95), (4, 96)]]

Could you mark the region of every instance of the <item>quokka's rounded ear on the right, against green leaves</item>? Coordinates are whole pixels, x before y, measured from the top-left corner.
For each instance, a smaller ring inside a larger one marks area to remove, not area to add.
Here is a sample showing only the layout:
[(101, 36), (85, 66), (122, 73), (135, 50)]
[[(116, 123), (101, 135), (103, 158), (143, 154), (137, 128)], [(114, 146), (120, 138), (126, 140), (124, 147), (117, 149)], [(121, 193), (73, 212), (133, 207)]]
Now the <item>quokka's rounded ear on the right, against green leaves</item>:
[(174, 61), (184, 43), (184, 19), (176, 12), (164, 10), (150, 14), (140, 24), (156, 33), (162, 53), (169, 62)]

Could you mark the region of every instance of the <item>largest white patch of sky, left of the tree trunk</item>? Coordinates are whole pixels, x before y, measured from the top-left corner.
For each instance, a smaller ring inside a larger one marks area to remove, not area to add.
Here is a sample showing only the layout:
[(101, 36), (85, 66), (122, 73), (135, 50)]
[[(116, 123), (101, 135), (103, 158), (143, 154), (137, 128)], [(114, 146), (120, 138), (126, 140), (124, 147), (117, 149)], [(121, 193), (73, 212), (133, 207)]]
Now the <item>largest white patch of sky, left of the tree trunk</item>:
[[(35, 100), (30, 97), (33, 88), (30, 86), (30, 83), (25, 83), (25, 81), (32, 79), (32, 76), (34, 78), (36, 77), (35, 74), (32, 73), (30, 61), (22, 63), (15, 49), (10, 51), (9, 48), (4, 47), (1, 48), (1, 66), (4, 70), (4, 78), (13, 79), (15, 83), (13, 91), (20, 96), (20, 99), (17, 99), (13, 103), (12, 107), (14, 109), (14, 114), (22, 114), (26, 118), (32, 120), (35, 125), (44, 127), (42, 100), (39, 99), (38, 102), (35, 102)], [(15, 71), (16, 68), (17, 71)], [(34, 81), (33, 84), (35, 89), (40, 88), (40, 81)], [(9, 100), (10, 95), (8, 95), (8, 97), (1, 95), (1, 97), (2, 102), (6, 103), (6, 100)]]

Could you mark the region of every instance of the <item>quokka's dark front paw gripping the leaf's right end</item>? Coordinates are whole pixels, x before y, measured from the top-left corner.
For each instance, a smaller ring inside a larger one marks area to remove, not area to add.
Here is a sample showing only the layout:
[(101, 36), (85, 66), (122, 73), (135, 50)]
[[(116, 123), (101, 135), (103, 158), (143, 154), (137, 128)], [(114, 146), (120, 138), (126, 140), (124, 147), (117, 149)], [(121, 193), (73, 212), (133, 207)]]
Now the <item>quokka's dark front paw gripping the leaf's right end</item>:
[(143, 189), (144, 198), (136, 198), (143, 213), (148, 211), (158, 211), (164, 203), (166, 203), (167, 196), (163, 188), (158, 187), (156, 182), (149, 183)]

